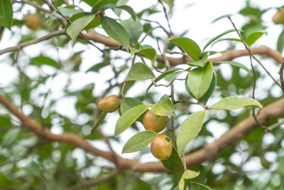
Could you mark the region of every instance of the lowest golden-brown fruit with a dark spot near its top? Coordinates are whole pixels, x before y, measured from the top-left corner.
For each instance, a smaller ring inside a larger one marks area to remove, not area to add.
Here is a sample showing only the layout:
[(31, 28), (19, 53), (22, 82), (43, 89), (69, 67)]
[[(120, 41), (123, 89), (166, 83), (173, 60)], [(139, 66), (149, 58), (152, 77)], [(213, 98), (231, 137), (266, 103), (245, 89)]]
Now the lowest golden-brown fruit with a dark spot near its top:
[(151, 142), (151, 152), (154, 157), (165, 160), (169, 159), (173, 151), (173, 143), (165, 134), (158, 134)]

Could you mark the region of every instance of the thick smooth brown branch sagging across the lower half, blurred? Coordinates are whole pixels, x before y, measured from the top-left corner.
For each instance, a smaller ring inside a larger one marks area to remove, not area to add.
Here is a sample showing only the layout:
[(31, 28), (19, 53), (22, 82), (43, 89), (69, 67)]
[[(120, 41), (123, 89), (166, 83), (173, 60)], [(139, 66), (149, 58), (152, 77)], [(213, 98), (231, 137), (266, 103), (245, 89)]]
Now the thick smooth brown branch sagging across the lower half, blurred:
[[(30, 117), (26, 116), (18, 110), (18, 107), (13, 105), (4, 95), (0, 94), (0, 103), (6, 107), (13, 115), (18, 117), (19, 120), (26, 126), (29, 130), (33, 131), (40, 137), (45, 137), (46, 139), (56, 141), (56, 142), (65, 142), (69, 144), (73, 144), (76, 147), (84, 149), (84, 151), (89, 152), (91, 154), (104, 157), (110, 162), (114, 162), (114, 157), (109, 152), (104, 152), (100, 149), (92, 147), (91, 144), (86, 142), (82, 137), (77, 136), (72, 133), (63, 133), (63, 134), (53, 134), (50, 130), (45, 129), (38, 125), (38, 123), (31, 120)], [(267, 105), (261, 110), (261, 113), (258, 115), (258, 121), (261, 124), (272, 120), (273, 118), (279, 117), (284, 114), (284, 97), (280, 100), (277, 100), (270, 105)], [(235, 127), (232, 127), (229, 132), (222, 135), (216, 141), (206, 144), (202, 149), (197, 152), (193, 152), (188, 154), (185, 157), (185, 161), (187, 167), (192, 167), (197, 164), (201, 164), (204, 161), (210, 161), (217, 157), (217, 154), (222, 151), (222, 149), (228, 147), (231, 144), (234, 144), (236, 141), (244, 137), (246, 134), (249, 134), (252, 130), (254, 130), (258, 125), (252, 116), (247, 117), (246, 120), (243, 120)], [(117, 157), (119, 162), (119, 169), (132, 169), (140, 172), (169, 172), (161, 162), (148, 162), (142, 164), (137, 160), (133, 159), (124, 159), (121, 157)]]

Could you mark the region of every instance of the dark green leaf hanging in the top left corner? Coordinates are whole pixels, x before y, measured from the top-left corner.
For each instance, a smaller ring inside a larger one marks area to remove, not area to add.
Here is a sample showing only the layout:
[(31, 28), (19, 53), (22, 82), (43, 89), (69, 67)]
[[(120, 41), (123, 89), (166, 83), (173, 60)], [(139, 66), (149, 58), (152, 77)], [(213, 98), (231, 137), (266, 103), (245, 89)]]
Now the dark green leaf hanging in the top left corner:
[(13, 22), (13, 6), (11, 0), (0, 0), (0, 25), (11, 30)]

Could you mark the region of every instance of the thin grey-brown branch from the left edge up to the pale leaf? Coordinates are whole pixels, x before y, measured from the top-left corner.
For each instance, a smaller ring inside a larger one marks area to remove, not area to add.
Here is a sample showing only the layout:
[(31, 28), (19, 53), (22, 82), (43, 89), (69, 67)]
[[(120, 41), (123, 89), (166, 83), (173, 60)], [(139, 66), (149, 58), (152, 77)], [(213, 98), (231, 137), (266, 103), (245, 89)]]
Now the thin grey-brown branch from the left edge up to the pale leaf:
[(31, 41), (26, 41), (26, 42), (23, 42), (23, 43), (19, 43), (17, 46), (12, 46), (12, 47), (9, 47), (9, 48), (5, 48), (3, 50), (0, 50), (0, 56), (4, 53), (8, 53), (8, 52), (12, 52), (12, 51), (19, 51), (21, 50), (21, 48), (25, 48), (26, 46), (31, 46), (35, 43), (39, 43), (41, 41), (46, 41), (50, 38), (53, 38), (55, 36), (60, 36), (60, 35), (64, 35), (65, 34), (65, 31), (64, 30), (60, 30), (60, 31), (54, 31), (52, 33), (48, 33), (47, 35), (45, 36), (42, 36), (40, 38), (35, 38)]

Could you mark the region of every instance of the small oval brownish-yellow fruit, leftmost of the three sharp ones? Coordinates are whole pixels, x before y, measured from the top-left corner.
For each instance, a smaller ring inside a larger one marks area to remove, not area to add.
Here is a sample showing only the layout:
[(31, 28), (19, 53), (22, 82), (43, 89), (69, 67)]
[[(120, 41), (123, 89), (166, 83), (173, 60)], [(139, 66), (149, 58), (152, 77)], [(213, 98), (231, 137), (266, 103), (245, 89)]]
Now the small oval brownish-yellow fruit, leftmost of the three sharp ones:
[(117, 108), (119, 108), (119, 105), (119, 96), (109, 95), (107, 97), (104, 97), (104, 99), (99, 102), (98, 107), (99, 110), (102, 110), (103, 112), (114, 112), (115, 110), (117, 110)]

